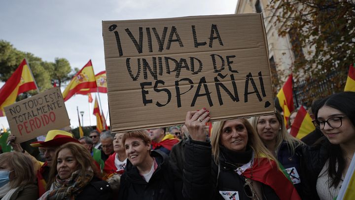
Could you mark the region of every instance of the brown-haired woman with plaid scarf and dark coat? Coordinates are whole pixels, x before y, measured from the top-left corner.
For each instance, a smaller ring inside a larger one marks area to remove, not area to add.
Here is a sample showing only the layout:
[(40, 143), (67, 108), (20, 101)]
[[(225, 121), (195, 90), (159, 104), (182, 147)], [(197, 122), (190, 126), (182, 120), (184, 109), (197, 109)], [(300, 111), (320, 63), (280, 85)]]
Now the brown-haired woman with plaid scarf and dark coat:
[[(101, 180), (95, 161), (78, 143), (62, 145), (53, 159), (47, 192), (40, 200), (108, 200), (111, 189)], [(55, 167), (56, 166), (56, 167)]]

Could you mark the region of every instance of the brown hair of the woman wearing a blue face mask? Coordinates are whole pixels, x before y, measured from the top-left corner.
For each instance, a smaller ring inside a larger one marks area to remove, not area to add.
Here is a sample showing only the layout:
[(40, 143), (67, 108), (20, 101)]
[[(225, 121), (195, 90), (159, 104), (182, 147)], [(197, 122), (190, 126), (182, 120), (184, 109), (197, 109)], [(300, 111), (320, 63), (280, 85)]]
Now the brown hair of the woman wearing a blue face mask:
[(29, 156), (20, 152), (0, 154), (0, 163), (7, 162), (14, 171), (15, 178), (10, 180), (10, 187), (17, 188), (35, 182), (35, 172)]

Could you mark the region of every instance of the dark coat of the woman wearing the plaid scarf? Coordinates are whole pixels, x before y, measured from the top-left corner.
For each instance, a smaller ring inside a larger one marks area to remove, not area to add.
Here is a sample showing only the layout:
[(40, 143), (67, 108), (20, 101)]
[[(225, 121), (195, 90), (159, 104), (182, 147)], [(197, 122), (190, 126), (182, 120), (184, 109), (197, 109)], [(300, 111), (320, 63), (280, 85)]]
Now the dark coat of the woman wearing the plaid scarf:
[(95, 176), (90, 183), (84, 187), (77, 196), (76, 200), (111, 200), (112, 191), (109, 184)]

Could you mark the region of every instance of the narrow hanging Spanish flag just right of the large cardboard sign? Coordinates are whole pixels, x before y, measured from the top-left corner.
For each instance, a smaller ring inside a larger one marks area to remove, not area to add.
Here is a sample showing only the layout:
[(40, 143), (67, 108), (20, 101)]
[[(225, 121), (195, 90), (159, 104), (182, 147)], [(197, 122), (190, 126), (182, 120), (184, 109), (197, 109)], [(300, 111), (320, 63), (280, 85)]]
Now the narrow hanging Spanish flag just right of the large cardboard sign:
[(275, 106), (279, 108), (279, 110), (284, 111), (284, 120), (285, 124), (287, 124), (290, 113), (294, 110), (292, 95), (292, 74), (288, 76), (284, 86), (276, 95)]

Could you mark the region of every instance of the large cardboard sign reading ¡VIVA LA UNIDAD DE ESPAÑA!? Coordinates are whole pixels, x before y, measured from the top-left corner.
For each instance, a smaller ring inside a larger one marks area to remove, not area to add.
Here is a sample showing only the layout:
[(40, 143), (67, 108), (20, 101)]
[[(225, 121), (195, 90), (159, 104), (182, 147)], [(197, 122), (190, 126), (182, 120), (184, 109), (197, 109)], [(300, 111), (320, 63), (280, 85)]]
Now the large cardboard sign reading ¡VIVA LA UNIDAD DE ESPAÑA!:
[(275, 110), (261, 14), (103, 21), (111, 131)]

